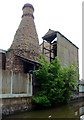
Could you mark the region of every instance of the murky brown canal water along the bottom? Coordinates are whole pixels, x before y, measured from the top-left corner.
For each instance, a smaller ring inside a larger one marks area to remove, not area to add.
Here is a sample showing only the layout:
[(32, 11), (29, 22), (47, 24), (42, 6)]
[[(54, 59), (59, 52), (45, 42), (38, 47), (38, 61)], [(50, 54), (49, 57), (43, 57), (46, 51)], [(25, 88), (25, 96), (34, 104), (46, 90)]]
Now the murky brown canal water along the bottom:
[(84, 99), (42, 110), (30, 110), (6, 118), (80, 118), (84, 115)]

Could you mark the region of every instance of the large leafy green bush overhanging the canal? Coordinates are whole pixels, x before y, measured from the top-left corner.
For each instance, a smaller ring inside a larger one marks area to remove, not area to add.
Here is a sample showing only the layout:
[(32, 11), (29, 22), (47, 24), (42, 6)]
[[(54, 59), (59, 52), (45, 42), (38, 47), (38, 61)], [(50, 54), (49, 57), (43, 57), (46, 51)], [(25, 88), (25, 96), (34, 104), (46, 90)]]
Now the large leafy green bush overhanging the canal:
[(40, 91), (32, 98), (33, 101), (46, 107), (68, 102), (72, 91), (77, 89), (78, 68), (73, 64), (61, 67), (57, 57), (51, 63), (43, 55), (38, 60), (41, 66), (35, 74)]

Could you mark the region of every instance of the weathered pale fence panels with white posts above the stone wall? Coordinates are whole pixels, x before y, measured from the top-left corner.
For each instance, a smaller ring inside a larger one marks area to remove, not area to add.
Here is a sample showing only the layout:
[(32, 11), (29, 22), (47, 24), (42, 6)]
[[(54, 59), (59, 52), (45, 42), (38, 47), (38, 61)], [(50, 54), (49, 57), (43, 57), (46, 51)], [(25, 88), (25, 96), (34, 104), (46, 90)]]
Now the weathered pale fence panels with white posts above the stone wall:
[[(1, 93), (0, 93), (1, 94)], [(2, 71), (2, 94), (32, 96), (32, 74)]]

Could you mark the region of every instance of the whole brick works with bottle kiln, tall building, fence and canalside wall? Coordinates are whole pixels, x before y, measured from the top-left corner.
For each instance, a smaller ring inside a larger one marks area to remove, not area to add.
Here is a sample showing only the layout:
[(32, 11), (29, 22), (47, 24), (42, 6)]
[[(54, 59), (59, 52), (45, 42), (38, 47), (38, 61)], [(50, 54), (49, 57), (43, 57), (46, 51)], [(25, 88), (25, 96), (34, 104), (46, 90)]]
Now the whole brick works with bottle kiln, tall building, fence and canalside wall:
[(43, 37), (43, 43), (39, 45), (33, 16), (34, 8), (31, 4), (25, 4), (22, 10), (22, 20), (11, 47), (8, 51), (0, 50), (0, 98), (3, 114), (31, 107), (31, 97), (37, 86), (32, 71), (38, 69), (40, 63), (35, 57), (40, 58), (40, 53), (49, 61), (58, 56), (62, 66), (74, 60), (78, 64), (78, 47), (60, 32), (49, 30)]

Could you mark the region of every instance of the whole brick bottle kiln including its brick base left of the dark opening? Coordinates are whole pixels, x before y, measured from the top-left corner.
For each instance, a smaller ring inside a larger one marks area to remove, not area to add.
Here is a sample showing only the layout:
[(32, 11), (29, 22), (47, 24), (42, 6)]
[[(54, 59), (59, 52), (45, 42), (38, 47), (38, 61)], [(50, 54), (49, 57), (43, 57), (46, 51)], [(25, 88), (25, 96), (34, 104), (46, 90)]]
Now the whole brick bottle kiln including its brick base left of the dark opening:
[(6, 70), (15, 72), (24, 71), (24, 63), (18, 57), (35, 61), (35, 57), (40, 55), (33, 16), (34, 8), (31, 4), (25, 4), (22, 10), (21, 23), (16, 31), (13, 43), (6, 53)]

